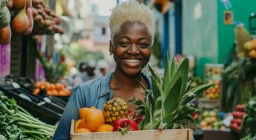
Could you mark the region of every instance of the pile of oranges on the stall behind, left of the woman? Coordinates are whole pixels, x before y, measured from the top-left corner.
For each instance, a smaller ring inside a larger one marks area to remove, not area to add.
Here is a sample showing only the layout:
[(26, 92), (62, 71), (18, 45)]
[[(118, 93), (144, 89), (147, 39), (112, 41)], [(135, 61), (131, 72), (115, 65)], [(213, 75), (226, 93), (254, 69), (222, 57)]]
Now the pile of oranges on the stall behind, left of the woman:
[(66, 89), (66, 85), (61, 83), (49, 83), (44, 81), (39, 81), (34, 84), (34, 95), (37, 95), (41, 90), (45, 90), (46, 94), (49, 96), (62, 96), (68, 97), (71, 94), (70, 90)]

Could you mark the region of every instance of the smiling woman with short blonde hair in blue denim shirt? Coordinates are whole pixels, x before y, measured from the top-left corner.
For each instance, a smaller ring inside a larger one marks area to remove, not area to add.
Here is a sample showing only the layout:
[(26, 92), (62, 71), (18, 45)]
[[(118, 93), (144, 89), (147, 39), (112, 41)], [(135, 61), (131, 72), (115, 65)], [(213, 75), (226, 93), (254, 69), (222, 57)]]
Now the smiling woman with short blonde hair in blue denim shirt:
[[(90, 80), (76, 87), (53, 139), (69, 139), (71, 120), (79, 119), (81, 107), (95, 106), (102, 109), (109, 99), (119, 97), (128, 102), (133, 99), (133, 95), (144, 100), (140, 82), (151, 89), (151, 80), (142, 73), (142, 69), (151, 55), (154, 38), (153, 12), (149, 7), (132, 0), (117, 5), (109, 20), (109, 52), (114, 55), (116, 69), (103, 78)], [(129, 104), (128, 110), (134, 111), (134, 106)]]

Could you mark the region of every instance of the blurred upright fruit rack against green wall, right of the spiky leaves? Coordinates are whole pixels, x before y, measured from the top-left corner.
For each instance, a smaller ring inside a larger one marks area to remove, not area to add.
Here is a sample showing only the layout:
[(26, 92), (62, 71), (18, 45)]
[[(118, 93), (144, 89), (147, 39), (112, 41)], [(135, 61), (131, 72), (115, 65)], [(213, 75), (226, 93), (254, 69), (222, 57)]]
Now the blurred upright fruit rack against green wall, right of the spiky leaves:
[(222, 64), (206, 64), (205, 83), (214, 84), (206, 90), (206, 99), (220, 99), (222, 89)]

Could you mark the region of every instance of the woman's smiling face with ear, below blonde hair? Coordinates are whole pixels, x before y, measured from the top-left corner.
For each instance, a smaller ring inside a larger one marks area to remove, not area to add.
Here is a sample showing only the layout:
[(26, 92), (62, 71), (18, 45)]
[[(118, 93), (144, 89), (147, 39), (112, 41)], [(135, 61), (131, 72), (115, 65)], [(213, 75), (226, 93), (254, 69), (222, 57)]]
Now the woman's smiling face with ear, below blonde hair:
[(151, 55), (151, 36), (147, 27), (140, 22), (124, 23), (114, 36), (114, 45), (110, 43), (109, 51), (114, 54), (116, 71), (139, 74)]

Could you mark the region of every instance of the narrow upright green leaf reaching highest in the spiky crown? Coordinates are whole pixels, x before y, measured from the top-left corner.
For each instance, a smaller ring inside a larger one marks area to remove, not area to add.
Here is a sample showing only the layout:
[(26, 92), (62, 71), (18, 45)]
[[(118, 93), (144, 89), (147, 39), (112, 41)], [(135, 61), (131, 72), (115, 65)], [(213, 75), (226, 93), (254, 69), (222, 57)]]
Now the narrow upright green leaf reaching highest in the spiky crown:
[(163, 74), (163, 91), (166, 92), (168, 89), (168, 85), (170, 83), (170, 60), (169, 60), (169, 54), (168, 51), (166, 52), (166, 67), (164, 69)]

